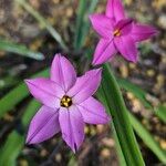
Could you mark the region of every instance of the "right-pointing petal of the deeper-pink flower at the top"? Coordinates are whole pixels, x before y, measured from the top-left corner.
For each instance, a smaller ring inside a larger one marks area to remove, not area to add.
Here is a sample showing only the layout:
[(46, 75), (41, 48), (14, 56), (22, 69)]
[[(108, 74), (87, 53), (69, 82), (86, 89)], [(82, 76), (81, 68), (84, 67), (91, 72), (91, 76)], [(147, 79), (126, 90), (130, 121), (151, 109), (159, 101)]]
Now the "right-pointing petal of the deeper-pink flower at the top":
[(132, 37), (136, 42), (149, 39), (156, 33), (157, 30), (154, 27), (133, 23)]

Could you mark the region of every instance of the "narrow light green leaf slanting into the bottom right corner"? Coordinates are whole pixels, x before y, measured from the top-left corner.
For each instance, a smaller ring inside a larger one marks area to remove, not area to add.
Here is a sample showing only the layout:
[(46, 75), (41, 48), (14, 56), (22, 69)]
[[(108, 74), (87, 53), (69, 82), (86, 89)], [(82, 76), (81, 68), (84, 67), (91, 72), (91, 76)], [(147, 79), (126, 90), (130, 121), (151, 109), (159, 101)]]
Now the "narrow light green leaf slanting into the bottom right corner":
[(137, 135), (143, 139), (147, 147), (158, 157), (163, 164), (166, 164), (166, 152), (163, 151), (159, 144), (153, 138), (151, 133), (139, 123), (138, 120), (132, 113), (128, 112), (131, 123), (137, 133)]

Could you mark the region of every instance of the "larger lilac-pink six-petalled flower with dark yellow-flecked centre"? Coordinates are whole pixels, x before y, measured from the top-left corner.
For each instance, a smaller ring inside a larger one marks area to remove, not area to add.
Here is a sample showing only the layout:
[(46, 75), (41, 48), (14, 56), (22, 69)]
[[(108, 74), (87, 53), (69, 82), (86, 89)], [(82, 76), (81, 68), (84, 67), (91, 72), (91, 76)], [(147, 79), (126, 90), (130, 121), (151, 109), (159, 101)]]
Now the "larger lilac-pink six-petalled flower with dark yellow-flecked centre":
[(61, 131), (65, 143), (75, 152), (84, 139), (84, 123), (108, 123), (104, 106), (92, 97), (101, 73), (101, 69), (91, 70), (76, 77), (72, 64), (56, 54), (51, 79), (25, 80), (31, 94), (43, 104), (31, 121), (27, 143), (41, 143)]

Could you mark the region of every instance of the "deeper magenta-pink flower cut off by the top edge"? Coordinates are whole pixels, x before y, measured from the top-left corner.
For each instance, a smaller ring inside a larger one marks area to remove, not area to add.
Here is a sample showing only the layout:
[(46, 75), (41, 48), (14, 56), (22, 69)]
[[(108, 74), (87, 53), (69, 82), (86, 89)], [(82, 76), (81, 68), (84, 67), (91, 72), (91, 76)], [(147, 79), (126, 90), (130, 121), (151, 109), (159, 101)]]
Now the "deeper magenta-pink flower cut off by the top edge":
[(126, 60), (137, 61), (136, 43), (154, 35), (155, 28), (126, 19), (121, 0), (108, 0), (105, 14), (92, 14), (90, 20), (101, 35), (93, 64), (102, 64), (120, 52)]

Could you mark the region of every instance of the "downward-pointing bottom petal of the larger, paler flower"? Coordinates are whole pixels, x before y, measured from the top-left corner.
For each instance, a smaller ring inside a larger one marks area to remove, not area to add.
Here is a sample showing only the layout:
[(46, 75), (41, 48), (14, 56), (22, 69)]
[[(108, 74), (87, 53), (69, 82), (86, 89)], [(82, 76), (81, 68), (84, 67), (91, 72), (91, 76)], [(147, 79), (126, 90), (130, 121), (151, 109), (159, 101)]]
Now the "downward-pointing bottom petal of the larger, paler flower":
[(75, 153), (84, 139), (82, 114), (75, 106), (71, 106), (69, 110), (62, 107), (60, 110), (59, 122), (63, 139)]

